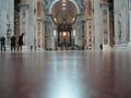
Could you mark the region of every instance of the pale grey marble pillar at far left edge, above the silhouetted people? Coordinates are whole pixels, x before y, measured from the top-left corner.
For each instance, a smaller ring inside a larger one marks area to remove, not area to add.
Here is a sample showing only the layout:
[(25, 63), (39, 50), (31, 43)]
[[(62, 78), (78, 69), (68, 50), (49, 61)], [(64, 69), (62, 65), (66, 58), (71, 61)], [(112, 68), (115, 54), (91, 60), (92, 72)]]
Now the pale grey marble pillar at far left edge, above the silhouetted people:
[(14, 30), (14, 0), (0, 0), (0, 37), (4, 36), (7, 45)]

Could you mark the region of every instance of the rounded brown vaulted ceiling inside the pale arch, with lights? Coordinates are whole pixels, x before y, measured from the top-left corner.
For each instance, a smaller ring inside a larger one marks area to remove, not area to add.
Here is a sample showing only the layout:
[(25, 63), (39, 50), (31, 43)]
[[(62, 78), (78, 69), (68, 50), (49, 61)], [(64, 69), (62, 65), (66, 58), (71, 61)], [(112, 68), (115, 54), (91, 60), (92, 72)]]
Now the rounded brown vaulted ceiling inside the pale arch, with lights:
[(78, 9), (71, 1), (63, 1), (61, 0), (53, 4), (51, 14), (57, 24), (63, 22), (71, 24), (76, 16)]

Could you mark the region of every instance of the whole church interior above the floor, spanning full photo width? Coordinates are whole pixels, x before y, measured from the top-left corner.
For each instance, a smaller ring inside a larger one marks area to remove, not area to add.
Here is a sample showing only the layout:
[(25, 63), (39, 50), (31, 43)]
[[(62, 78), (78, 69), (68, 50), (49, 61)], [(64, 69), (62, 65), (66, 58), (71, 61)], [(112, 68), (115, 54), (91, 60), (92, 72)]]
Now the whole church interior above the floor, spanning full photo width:
[[(1, 0), (2, 1), (2, 0)], [(12, 0), (1, 14), (1, 37), (24, 34), (24, 49), (130, 48), (130, 0)], [(7, 4), (7, 5), (8, 5)], [(3, 19), (7, 16), (7, 19)], [(9, 25), (9, 26), (7, 26)], [(7, 33), (5, 33), (7, 32)]]

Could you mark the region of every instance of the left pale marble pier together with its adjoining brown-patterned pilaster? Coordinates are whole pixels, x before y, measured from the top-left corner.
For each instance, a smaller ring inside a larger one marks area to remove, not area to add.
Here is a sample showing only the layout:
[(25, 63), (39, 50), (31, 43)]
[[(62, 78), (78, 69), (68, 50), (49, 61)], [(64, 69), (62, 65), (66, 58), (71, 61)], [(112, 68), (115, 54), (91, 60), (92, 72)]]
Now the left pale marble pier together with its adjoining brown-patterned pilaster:
[(24, 44), (27, 48), (44, 48), (43, 11), (44, 2), (40, 0), (22, 0), (20, 4), (20, 34), (25, 34)]

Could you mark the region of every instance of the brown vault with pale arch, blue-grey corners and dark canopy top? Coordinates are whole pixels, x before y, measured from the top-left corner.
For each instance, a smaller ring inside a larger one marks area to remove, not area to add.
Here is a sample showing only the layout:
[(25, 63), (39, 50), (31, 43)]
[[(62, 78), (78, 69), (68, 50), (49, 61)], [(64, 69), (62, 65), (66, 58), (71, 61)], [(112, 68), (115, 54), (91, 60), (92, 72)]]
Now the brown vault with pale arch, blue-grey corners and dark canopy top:
[[(45, 13), (51, 14), (59, 30), (70, 30), (78, 12), (84, 11), (84, 0), (45, 0)], [(52, 7), (51, 7), (52, 5)]]

